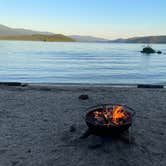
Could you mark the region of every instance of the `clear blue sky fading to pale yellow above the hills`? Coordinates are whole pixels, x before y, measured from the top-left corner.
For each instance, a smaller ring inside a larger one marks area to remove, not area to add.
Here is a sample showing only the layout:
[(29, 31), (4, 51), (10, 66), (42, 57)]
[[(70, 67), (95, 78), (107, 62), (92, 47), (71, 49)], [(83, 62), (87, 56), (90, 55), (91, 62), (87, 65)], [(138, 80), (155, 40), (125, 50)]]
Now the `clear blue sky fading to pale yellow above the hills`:
[(108, 39), (166, 35), (166, 0), (0, 0), (0, 24)]

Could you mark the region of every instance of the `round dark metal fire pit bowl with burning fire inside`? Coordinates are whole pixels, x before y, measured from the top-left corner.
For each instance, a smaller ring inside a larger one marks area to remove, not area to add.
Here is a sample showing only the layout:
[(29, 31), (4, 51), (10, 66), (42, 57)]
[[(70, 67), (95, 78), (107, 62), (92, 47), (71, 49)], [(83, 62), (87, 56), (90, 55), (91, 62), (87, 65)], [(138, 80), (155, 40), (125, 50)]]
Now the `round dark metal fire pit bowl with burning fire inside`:
[(119, 104), (104, 104), (91, 107), (86, 114), (89, 131), (95, 135), (111, 135), (126, 131), (132, 125), (135, 111)]

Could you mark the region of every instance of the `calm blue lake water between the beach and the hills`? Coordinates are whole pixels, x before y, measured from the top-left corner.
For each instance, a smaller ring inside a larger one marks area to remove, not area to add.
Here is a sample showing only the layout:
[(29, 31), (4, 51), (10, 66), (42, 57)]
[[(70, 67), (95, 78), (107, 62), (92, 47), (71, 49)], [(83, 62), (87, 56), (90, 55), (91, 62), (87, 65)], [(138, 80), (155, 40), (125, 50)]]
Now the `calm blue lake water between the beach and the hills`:
[(31, 83), (166, 83), (161, 55), (141, 55), (144, 44), (0, 41), (0, 81)]

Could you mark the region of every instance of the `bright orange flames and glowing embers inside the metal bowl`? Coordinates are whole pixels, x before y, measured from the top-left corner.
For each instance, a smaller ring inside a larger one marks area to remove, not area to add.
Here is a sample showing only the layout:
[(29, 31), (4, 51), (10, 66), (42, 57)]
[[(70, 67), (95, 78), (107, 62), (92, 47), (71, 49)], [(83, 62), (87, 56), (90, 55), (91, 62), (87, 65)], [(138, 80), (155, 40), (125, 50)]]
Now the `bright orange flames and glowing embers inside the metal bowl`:
[(123, 106), (113, 106), (113, 108), (105, 107), (102, 111), (94, 111), (96, 123), (105, 126), (122, 125), (129, 119), (129, 113), (124, 110)]

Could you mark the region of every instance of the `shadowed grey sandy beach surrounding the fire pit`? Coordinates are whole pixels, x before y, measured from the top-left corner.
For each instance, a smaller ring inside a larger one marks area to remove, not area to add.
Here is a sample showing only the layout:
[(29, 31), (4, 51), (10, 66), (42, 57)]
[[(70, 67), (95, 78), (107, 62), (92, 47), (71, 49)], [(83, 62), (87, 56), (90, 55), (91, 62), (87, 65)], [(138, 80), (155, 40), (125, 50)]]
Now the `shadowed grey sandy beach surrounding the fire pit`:
[[(88, 100), (79, 100), (81, 94)], [(80, 136), (86, 109), (127, 104), (136, 111), (130, 141)], [(165, 166), (166, 89), (0, 86), (0, 166)]]

